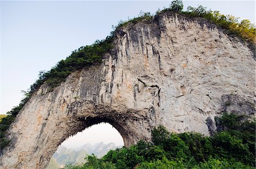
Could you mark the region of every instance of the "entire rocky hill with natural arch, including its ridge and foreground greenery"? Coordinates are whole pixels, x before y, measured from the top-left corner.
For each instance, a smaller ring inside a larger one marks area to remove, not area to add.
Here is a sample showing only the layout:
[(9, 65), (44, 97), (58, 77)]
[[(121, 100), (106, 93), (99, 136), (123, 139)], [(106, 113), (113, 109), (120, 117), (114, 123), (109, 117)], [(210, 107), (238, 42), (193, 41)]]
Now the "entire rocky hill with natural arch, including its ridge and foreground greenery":
[[(125, 147), (100, 161), (88, 157), (105, 168), (139, 167), (144, 160), (157, 166), (158, 159), (231, 168), (235, 160), (250, 168), (255, 28), (230, 19), (200, 6), (182, 11), (181, 1), (174, 1), (155, 16), (121, 22), (106, 40), (75, 50), (42, 73), (2, 119), (0, 166), (45, 168), (65, 139), (108, 122)], [(222, 124), (221, 115), (234, 119)], [(197, 138), (202, 142), (194, 147)]]

